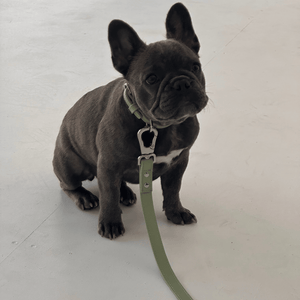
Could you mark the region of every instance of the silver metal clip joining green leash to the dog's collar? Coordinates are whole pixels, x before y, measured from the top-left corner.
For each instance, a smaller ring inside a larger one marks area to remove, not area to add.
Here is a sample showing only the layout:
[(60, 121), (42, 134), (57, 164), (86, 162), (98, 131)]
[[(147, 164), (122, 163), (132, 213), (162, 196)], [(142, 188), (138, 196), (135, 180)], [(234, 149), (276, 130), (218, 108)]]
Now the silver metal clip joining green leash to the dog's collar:
[[(144, 134), (144, 137), (143, 137), (143, 134)], [(153, 137), (151, 137), (151, 135), (153, 135)], [(156, 155), (154, 154), (154, 149), (155, 149), (155, 143), (156, 143), (157, 136), (158, 136), (158, 131), (156, 128), (154, 128), (152, 126), (152, 122), (150, 123), (150, 126), (146, 126), (138, 131), (137, 137), (138, 137), (141, 154), (142, 154), (138, 157), (138, 165), (141, 164), (142, 159), (152, 158), (153, 162), (154, 163), (156, 162)], [(143, 138), (145, 138), (145, 141), (143, 140)], [(145, 146), (145, 143), (146, 143), (146, 146)]]

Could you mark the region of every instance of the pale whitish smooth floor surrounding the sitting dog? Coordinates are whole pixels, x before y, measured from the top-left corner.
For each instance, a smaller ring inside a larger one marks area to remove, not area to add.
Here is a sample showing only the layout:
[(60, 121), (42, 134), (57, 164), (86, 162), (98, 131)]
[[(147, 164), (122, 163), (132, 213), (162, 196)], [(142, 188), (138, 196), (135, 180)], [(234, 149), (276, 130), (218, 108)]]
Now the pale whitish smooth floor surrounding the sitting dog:
[[(174, 1), (1, 1), (0, 298), (174, 299), (138, 203), (124, 237), (97, 234), (60, 190), (52, 154), (85, 92), (118, 77), (107, 25), (164, 39)], [(184, 1), (201, 42), (211, 102), (181, 191), (198, 217), (170, 224), (155, 206), (175, 273), (194, 299), (300, 299), (300, 3)], [(96, 182), (88, 185), (97, 193)], [(133, 186), (136, 193), (138, 187)]]

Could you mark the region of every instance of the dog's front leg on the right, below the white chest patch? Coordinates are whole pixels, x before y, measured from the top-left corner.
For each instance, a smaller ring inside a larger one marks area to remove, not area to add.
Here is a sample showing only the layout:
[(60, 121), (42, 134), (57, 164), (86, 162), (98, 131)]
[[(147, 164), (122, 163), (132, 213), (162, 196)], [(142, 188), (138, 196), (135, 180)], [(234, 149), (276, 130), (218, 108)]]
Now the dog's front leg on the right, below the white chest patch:
[(163, 209), (168, 220), (175, 224), (191, 224), (197, 222), (194, 214), (181, 205), (179, 191), (182, 176), (189, 160), (189, 150), (184, 150), (178, 161), (161, 176), (161, 186), (163, 190)]

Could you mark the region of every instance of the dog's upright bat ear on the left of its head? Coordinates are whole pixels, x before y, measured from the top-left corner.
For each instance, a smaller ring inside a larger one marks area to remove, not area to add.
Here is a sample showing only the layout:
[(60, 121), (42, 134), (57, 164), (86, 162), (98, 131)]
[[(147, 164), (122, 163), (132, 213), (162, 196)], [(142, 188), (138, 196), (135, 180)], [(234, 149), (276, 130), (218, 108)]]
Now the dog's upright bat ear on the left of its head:
[(117, 71), (124, 76), (138, 51), (145, 47), (132, 27), (121, 20), (113, 20), (108, 26), (111, 59)]

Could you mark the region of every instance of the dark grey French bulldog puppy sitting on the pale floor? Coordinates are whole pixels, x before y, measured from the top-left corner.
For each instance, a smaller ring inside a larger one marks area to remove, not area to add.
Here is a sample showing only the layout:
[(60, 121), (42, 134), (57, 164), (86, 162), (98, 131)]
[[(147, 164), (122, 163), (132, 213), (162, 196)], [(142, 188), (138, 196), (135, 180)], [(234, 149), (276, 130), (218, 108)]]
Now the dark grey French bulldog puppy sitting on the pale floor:
[[(137, 132), (145, 120), (158, 130), (153, 180), (161, 178), (166, 217), (175, 224), (197, 221), (182, 206), (179, 190), (199, 133), (196, 115), (208, 97), (199, 40), (183, 4), (170, 8), (166, 32), (166, 40), (146, 45), (127, 23), (111, 21), (112, 62), (123, 76), (76, 102), (56, 140), (53, 167), (61, 188), (82, 210), (100, 206), (98, 233), (109, 239), (125, 232), (120, 203), (130, 206), (137, 199), (126, 183), (139, 182)], [(94, 177), (99, 199), (82, 187)]]

